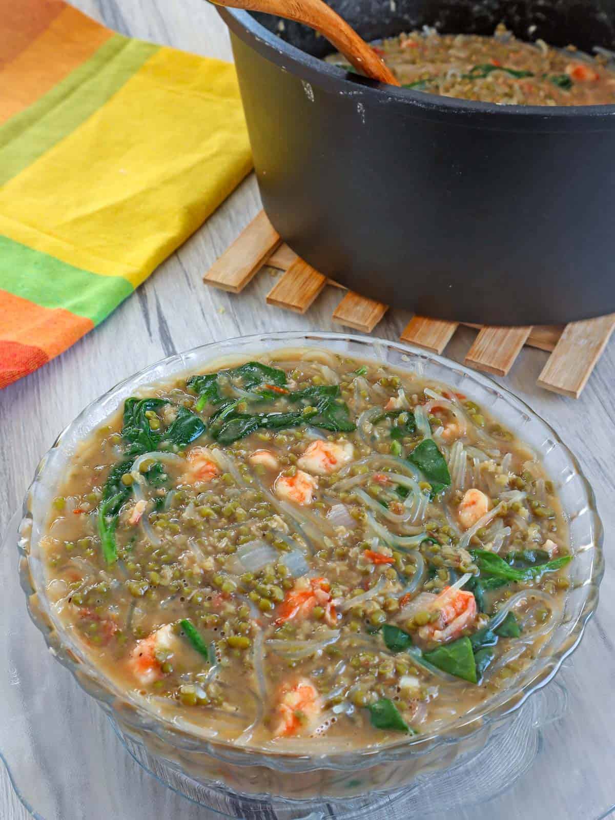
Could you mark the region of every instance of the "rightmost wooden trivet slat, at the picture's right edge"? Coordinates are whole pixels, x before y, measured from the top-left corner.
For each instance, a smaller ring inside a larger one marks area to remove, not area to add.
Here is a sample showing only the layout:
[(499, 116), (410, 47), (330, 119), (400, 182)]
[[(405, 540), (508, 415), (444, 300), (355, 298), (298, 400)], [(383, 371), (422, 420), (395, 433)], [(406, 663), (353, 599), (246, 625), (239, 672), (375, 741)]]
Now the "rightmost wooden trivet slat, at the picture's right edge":
[(614, 327), (615, 313), (599, 319), (572, 321), (564, 328), (561, 339), (544, 365), (538, 384), (555, 393), (578, 399)]

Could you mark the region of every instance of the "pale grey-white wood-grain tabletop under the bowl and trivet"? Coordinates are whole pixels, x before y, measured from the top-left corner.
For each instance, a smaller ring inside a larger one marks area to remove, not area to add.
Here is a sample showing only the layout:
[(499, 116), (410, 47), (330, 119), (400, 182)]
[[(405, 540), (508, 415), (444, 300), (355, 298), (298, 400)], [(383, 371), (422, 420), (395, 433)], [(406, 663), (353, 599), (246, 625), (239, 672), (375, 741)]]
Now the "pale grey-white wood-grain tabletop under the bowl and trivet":
[[(213, 7), (203, 0), (76, 0), (75, 4), (91, 16), (123, 34), (158, 43), (168, 43), (189, 51), (230, 59), (230, 43), (225, 26)], [(1, 22), (0, 22), (0, 25)], [(260, 198), (251, 176), (203, 225), (201, 230), (165, 262), (125, 303), (59, 358), (39, 371), (0, 391), (0, 530), (4, 530), (25, 493), (41, 455), (52, 444), (58, 431), (75, 417), (85, 404), (98, 397), (116, 381), (150, 362), (176, 351), (216, 339), (265, 330), (318, 329), (339, 330), (331, 326), (330, 316), (339, 302), (339, 290), (329, 288), (305, 316), (276, 307), (265, 307), (265, 294), (271, 279), (263, 274), (239, 297), (208, 289), (202, 276), (216, 257), (235, 239), (244, 225), (257, 213)], [(391, 311), (377, 333), (387, 339), (398, 339), (409, 319), (407, 312)], [(447, 353), (462, 361), (473, 331), (458, 330)], [(613, 342), (591, 376), (579, 401), (563, 399), (535, 386), (544, 365), (546, 353), (525, 348), (512, 373), (508, 386), (526, 399), (547, 419), (576, 452), (594, 485), (608, 540), (615, 523), (615, 342)], [(598, 617), (590, 624), (588, 634), (572, 660), (572, 670), (594, 664), (596, 656), (613, 658), (615, 614), (615, 573), (608, 570), (602, 588)], [(577, 664), (579, 666), (577, 666)], [(613, 686), (613, 679), (611, 681)], [(613, 734), (613, 699), (602, 715), (605, 731)], [(593, 704), (599, 708), (599, 704)], [(588, 730), (589, 731), (589, 730)], [(599, 737), (596, 738), (599, 743)], [(572, 752), (571, 752), (572, 754)], [(115, 763), (117, 766), (118, 763)], [(138, 767), (127, 756), (121, 768)], [(613, 782), (613, 756), (596, 765), (604, 765), (604, 778)], [(144, 777), (135, 772), (134, 777)], [(558, 777), (567, 777), (559, 769)], [(73, 784), (74, 788), (85, 788)], [(553, 782), (545, 789), (557, 788)], [(213, 814), (191, 806), (155, 783), (151, 790), (152, 818), (177, 820), (212, 820)], [(546, 807), (532, 804), (512, 809), (506, 817), (518, 820), (541, 820)], [(605, 809), (607, 807), (605, 806)], [(464, 813), (464, 818), (466, 813)], [(467, 817), (482, 820), (493, 814), (468, 812)], [(606, 815), (603, 815), (606, 816)], [(0, 771), (0, 818), (26, 820), (26, 813), (11, 791), (6, 772)], [(65, 820), (74, 820), (66, 817)], [(124, 818), (114, 818), (124, 820)], [(376, 820), (376, 818), (374, 818)], [(558, 816), (558, 820), (597, 820), (578, 813)]]

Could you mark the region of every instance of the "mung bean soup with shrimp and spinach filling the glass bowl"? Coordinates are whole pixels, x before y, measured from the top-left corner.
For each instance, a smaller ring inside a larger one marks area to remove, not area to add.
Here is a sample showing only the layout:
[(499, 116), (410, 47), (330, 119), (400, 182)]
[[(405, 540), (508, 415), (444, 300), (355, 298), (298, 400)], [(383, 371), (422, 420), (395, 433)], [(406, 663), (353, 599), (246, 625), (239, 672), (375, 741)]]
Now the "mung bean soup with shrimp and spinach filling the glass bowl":
[(116, 683), (208, 736), (437, 730), (558, 621), (553, 486), (445, 385), (326, 351), (262, 362), (153, 385), (84, 442), (43, 539), (52, 606)]

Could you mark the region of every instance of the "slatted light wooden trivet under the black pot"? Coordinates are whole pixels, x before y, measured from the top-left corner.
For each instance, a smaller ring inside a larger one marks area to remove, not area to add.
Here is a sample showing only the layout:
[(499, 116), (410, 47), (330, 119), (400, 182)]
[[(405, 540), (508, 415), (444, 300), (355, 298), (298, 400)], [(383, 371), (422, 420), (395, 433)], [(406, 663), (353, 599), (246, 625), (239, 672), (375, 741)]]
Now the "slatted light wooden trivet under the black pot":
[[(280, 237), (265, 212), (255, 217), (203, 280), (207, 285), (240, 293), (265, 265), (285, 271), (266, 297), (267, 303), (277, 307), (303, 313), (325, 285), (346, 290), (344, 285), (326, 279), (303, 262), (288, 245), (280, 244)], [(339, 324), (369, 333), (386, 310), (385, 304), (347, 291), (332, 318)], [(577, 398), (613, 332), (615, 314), (567, 326), (468, 326), (480, 332), (467, 353), (467, 364), (505, 376), (524, 344), (553, 351), (538, 384)], [(431, 352), (442, 353), (457, 328), (458, 322), (413, 317), (400, 338)]]

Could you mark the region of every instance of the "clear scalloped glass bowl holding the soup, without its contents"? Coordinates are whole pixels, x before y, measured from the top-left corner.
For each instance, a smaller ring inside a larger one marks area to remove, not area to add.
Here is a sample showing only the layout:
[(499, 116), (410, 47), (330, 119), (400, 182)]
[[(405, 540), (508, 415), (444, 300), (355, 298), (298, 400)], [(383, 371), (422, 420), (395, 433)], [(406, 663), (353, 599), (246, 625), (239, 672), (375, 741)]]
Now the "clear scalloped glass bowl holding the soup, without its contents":
[[(95, 667), (80, 643), (52, 612), (45, 596), (45, 571), (39, 540), (67, 463), (75, 448), (116, 411), (135, 390), (180, 376), (185, 371), (220, 367), (228, 361), (257, 357), (276, 348), (321, 348), (349, 357), (385, 362), (393, 367), (443, 381), (483, 405), (504, 426), (529, 444), (544, 462), (558, 490), (570, 526), (572, 589), (562, 620), (554, 628), (535, 661), (512, 678), (508, 688), (479, 708), (459, 717), (437, 733), (403, 740), (382, 749), (327, 753), (326, 740), (313, 754), (272, 753), (239, 748), (213, 738), (204, 739), (163, 719), (121, 690)], [(594, 494), (576, 458), (545, 421), (525, 403), (485, 376), (454, 362), (408, 345), (337, 333), (296, 331), (247, 336), (207, 344), (145, 368), (116, 385), (83, 412), (58, 436), (43, 457), (24, 502), (20, 528), (21, 585), (30, 616), (43, 632), (55, 657), (80, 686), (97, 699), (127, 741), (145, 745), (154, 758), (204, 785), (217, 785), (239, 795), (281, 796), (294, 800), (352, 798), (368, 792), (399, 789), (419, 775), (448, 768), (460, 755), (476, 753), (491, 733), (505, 731), (506, 723), (524, 701), (558, 671), (576, 648), (585, 623), (598, 604), (604, 572), (602, 525)]]

